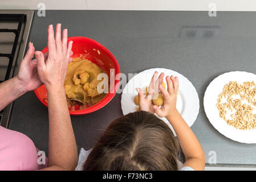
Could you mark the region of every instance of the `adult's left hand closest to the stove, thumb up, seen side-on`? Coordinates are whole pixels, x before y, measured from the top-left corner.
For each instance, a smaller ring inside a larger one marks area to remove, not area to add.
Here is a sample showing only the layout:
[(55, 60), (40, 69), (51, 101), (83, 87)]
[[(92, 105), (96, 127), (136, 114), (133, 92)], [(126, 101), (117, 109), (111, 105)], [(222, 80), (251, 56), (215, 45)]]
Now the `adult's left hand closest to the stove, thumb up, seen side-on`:
[[(29, 49), (21, 61), (21, 66), (19, 67), (18, 81), (22, 85), (23, 91), (28, 92), (34, 90), (41, 86), (43, 83), (40, 81), (38, 72), (37, 72), (37, 63), (36, 59), (32, 60), (34, 56), (35, 48), (32, 43), (29, 43)], [(47, 54), (44, 55), (47, 57)]]

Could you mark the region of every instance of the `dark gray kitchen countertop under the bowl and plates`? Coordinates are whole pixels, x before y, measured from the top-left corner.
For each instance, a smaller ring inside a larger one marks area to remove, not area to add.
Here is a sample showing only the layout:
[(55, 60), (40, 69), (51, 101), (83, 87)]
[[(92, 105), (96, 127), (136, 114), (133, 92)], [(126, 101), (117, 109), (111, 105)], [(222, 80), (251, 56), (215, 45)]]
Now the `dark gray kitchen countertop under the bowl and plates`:
[[(121, 72), (139, 73), (168, 68), (187, 77), (200, 99), (191, 127), (206, 154), (217, 154), (217, 164), (256, 164), (256, 144), (238, 143), (218, 133), (206, 118), (203, 97), (218, 75), (229, 71), (256, 73), (256, 13), (198, 11), (46, 11), (35, 12), (29, 41), (37, 50), (47, 45), (47, 25), (62, 23), (68, 36), (86, 36), (103, 44), (119, 62)], [(95, 113), (72, 117), (78, 147), (89, 149), (100, 134), (122, 115), (121, 94)], [(14, 104), (10, 129), (28, 135), (47, 152), (47, 107), (33, 92)]]

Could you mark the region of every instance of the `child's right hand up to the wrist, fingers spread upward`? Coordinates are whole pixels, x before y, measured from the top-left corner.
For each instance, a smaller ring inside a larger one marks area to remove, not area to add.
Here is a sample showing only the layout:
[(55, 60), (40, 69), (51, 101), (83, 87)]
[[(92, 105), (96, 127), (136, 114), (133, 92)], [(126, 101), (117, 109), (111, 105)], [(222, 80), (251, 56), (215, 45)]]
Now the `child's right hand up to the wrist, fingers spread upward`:
[(162, 105), (161, 108), (156, 105), (153, 106), (155, 113), (161, 118), (168, 117), (177, 111), (176, 102), (178, 93), (178, 77), (166, 76), (166, 82), (168, 86), (167, 90), (164, 86), (159, 85), (159, 89), (164, 96), (164, 105)]

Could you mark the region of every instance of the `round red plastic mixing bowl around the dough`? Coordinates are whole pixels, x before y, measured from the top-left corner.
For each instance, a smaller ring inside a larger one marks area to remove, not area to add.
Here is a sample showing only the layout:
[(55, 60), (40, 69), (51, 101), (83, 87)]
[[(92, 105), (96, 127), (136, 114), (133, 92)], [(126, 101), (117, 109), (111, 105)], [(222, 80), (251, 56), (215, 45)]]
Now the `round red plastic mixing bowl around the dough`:
[[(95, 63), (100, 68), (102, 68), (103, 71), (107, 73), (109, 79), (111, 78), (110, 69), (115, 70), (115, 77), (114, 77), (115, 84), (111, 84), (112, 88), (109, 88), (110, 92), (107, 93), (100, 102), (98, 102), (97, 104), (91, 107), (87, 107), (86, 109), (70, 110), (71, 115), (84, 115), (84, 114), (92, 113), (96, 110), (99, 110), (100, 108), (104, 107), (105, 105), (108, 104), (108, 102), (112, 100), (119, 86), (120, 68), (116, 58), (112, 55), (112, 53), (109, 52), (107, 48), (105, 48), (95, 40), (85, 38), (82, 36), (75, 36), (75, 37), (68, 38), (68, 42), (70, 40), (73, 41), (72, 58), (79, 57), (82, 55), (84, 58), (92, 61), (92, 63)], [(42, 52), (46, 53), (47, 51), (48, 51), (48, 47), (44, 48)], [(44, 105), (48, 106), (47, 99), (46, 99), (47, 98), (46, 86), (42, 85), (39, 88), (35, 89), (34, 92), (36, 97), (38, 97), (38, 99)]]

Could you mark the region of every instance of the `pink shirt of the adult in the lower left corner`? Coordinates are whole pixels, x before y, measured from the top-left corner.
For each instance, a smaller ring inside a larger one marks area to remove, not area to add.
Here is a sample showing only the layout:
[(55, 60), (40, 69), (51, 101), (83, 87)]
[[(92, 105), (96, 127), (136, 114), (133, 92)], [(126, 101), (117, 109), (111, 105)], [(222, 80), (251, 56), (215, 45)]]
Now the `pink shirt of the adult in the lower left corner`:
[(47, 166), (38, 164), (38, 149), (32, 140), (17, 131), (0, 126), (0, 171), (39, 170)]

